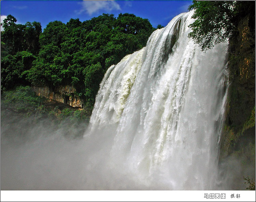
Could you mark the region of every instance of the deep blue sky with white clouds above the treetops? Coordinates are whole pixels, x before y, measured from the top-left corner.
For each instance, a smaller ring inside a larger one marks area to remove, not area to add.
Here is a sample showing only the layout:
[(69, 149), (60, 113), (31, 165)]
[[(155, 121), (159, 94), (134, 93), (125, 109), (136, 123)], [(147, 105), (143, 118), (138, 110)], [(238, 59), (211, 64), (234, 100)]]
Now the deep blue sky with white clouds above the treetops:
[[(188, 12), (192, 1), (1, 1), (1, 22), (11, 14), (16, 23), (41, 22), (42, 29), (55, 20), (89, 20), (102, 13), (132, 13), (147, 18), (153, 27), (166, 26), (176, 15)], [(1, 29), (2, 30), (2, 29)]]

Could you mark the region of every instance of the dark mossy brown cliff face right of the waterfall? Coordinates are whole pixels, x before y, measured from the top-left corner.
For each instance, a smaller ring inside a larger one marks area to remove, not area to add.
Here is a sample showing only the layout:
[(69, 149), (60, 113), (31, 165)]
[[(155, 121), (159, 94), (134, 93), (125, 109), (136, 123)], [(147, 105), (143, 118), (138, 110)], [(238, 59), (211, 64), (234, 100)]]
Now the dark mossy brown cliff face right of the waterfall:
[[(255, 13), (242, 17), (229, 40), (229, 95), (221, 138), (220, 161), (235, 157), (240, 174), (255, 175)], [(245, 169), (244, 169), (245, 170)]]

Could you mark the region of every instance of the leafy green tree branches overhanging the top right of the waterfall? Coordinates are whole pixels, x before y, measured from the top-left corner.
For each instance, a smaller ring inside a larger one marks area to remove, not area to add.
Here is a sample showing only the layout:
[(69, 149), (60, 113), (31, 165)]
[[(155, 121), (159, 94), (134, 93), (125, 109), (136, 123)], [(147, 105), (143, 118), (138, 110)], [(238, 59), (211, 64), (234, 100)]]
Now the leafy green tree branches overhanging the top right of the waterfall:
[(238, 18), (254, 7), (248, 1), (193, 1), (188, 9), (194, 9), (192, 18), (196, 20), (188, 26), (193, 30), (188, 37), (206, 51), (237, 32)]

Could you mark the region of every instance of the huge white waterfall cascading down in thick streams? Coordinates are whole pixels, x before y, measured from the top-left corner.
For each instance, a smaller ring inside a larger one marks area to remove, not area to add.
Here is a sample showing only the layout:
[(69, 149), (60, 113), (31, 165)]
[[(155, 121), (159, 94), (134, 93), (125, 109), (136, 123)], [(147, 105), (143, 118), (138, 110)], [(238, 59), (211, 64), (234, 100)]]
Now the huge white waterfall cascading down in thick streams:
[(218, 189), (227, 44), (201, 52), (187, 37), (192, 15), (176, 16), (108, 69), (85, 134), (113, 137), (105, 167), (142, 189)]

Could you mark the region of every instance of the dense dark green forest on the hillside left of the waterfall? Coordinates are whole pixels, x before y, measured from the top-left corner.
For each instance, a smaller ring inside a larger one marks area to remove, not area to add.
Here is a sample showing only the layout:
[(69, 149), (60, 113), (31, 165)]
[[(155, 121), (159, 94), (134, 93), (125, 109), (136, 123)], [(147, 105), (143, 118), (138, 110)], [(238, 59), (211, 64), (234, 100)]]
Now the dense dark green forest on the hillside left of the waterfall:
[(144, 47), (155, 30), (147, 19), (127, 13), (50, 22), (40, 35), (40, 23), (14, 22), (11, 15), (3, 22), (1, 89), (73, 85), (90, 105), (106, 69)]

